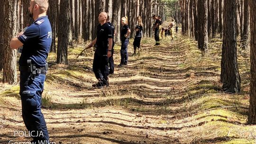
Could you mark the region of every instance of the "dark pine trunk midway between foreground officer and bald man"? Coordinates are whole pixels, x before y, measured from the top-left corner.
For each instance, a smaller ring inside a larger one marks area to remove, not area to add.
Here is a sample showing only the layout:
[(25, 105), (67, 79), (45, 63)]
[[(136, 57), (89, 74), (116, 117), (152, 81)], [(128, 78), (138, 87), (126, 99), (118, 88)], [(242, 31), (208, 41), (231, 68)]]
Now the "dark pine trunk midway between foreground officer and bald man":
[(64, 30), (68, 29), (69, 25), (71, 25), (70, 18), (70, 5), (69, 0), (61, 0), (60, 1), (60, 14), (59, 24), (58, 24), (58, 46), (57, 46), (57, 63), (67, 64), (67, 46), (68, 46), (68, 36), (69, 31)]

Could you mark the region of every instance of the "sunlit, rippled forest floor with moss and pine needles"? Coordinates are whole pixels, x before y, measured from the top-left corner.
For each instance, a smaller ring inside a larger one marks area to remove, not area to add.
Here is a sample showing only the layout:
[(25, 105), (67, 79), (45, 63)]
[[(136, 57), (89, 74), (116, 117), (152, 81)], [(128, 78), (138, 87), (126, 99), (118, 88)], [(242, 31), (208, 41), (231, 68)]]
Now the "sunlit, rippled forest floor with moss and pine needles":
[[(256, 144), (256, 126), (247, 125), (249, 54), (238, 49), (242, 91), (228, 94), (219, 82), (221, 40), (211, 39), (202, 56), (196, 42), (166, 37), (160, 46), (142, 40), (139, 55), (129, 44), (129, 63), (119, 64), (110, 86), (92, 89), (93, 51), (77, 60), (85, 44), (69, 48), (69, 64), (50, 54), (43, 114), (56, 144)], [(0, 79), (2, 73), (0, 74)], [(0, 143), (28, 142), (18, 85), (0, 84)], [(16, 143), (17, 144), (17, 143)]]

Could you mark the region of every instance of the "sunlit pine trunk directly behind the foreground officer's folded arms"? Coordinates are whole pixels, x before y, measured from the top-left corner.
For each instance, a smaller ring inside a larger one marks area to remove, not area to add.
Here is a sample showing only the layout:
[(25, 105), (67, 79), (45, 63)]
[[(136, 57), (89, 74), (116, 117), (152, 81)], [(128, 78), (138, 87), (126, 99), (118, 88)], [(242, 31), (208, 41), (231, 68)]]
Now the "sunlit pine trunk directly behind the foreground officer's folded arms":
[(10, 49), (12, 37), (17, 35), (17, 0), (4, 0), (3, 82), (17, 83), (17, 51)]

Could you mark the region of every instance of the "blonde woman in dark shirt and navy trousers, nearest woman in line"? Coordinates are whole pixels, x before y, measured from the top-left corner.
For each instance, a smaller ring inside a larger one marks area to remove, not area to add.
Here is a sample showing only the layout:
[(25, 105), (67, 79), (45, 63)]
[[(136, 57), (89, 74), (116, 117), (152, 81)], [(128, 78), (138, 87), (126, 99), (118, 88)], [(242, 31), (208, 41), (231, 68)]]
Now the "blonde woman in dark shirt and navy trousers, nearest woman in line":
[(121, 23), (123, 25), (121, 30), (121, 62), (119, 64), (119, 67), (123, 65), (128, 64), (128, 44), (129, 44), (129, 36), (131, 33), (131, 30), (128, 26), (128, 18), (123, 17), (121, 18)]

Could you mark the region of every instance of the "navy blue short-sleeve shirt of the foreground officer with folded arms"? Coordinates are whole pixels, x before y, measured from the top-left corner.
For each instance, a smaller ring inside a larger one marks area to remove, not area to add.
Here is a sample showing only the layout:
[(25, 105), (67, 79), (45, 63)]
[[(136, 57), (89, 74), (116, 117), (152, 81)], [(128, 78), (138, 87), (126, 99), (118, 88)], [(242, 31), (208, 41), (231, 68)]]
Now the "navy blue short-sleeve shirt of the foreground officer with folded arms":
[(48, 17), (37, 18), (18, 40), (23, 43), (19, 58), (20, 66), (26, 66), (29, 59), (38, 67), (45, 66), (52, 44), (52, 28)]

